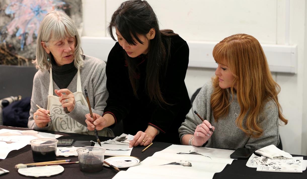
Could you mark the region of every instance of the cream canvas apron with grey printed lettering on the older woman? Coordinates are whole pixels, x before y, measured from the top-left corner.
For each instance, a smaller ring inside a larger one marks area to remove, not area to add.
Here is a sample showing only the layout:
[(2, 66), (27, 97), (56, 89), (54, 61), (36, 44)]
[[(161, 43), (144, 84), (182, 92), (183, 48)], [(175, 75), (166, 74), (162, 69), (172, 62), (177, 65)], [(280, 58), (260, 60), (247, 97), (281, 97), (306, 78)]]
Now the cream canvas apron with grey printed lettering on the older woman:
[[(81, 78), (80, 78), (80, 69), (77, 72), (77, 91), (73, 93), (76, 103), (80, 105), (87, 106), (87, 101), (85, 100), (82, 94), (81, 88)], [(49, 92), (48, 92), (48, 105), (47, 110), (50, 111), (50, 115), (52, 116), (52, 131), (59, 132), (69, 132), (69, 133), (80, 133), (80, 134), (88, 134), (95, 135), (94, 131), (89, 131), (87, 126), (82, 125), (76, 120), (72, 119), (68, 116), (62, 107), (62, 104), (59, 101), (59, 97), (53, 95), (53, 84), (52, 84), (52, 68), (50, 68), (50, 83), (49, 83)], [(84, 116), (85, 120), (85, 116)], [(98, 131), (98, 135), (100, 136), (108, 136), (107, 134), (108, 128), (104, 130)], [(111, 130), (111, 129), (110, 129)]]

